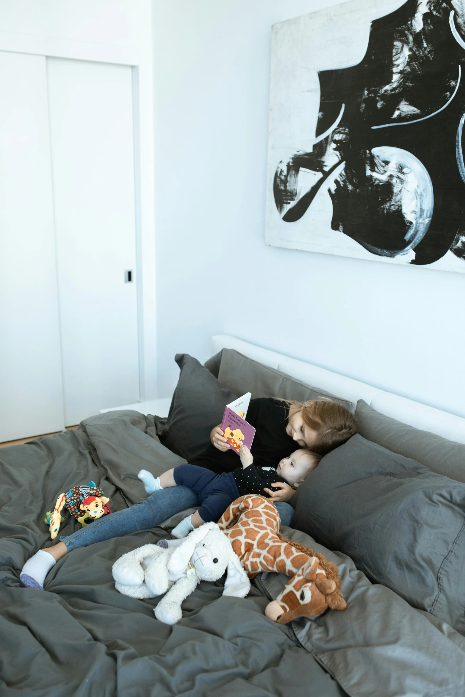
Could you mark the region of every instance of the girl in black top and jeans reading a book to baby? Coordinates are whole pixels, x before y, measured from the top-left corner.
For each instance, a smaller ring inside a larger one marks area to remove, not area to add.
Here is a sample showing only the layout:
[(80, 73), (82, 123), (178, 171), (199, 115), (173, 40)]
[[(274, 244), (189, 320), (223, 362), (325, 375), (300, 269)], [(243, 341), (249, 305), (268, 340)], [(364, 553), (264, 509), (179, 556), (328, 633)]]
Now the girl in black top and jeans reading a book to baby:
[[(309, 401), (304, 404), (271, 397), (250, 400), (247, 422), (256, 429), (252, 443), (255, 465), (273, 468), (277, 461), (287, 457), (293, 445), (308, 447), (325, 455), (348, 441), (359, 428), (355, 416), (335, 401)], [(210, 439), (211, 445), (192, 459), (192, 464), (206, 468), (207, 475), (208, 470), (220, 474), (236, 469), (237, 455), (229, 449), (220, 426), (211, 431)], [(295, 490), (287, 482), (278, 482), (276, 477), (272, 477), (271, 487), (273, 489), (268, 489), (266, 493), (277, 505), (282, 525), (290, 526), (294, 509), (285, 502), (294, 496)], [(188, 487), (156, 491), (139, 503), (103, 516), (72, 535), (62, 535), (58, 544), (40, 549), (22, 567), (20, 580), (23, 585), (43, 588), (50, 569), (73, 549), (129, 535), (137, 530), (150, 530), (174, 514), (200, 503), (195, 491)]]

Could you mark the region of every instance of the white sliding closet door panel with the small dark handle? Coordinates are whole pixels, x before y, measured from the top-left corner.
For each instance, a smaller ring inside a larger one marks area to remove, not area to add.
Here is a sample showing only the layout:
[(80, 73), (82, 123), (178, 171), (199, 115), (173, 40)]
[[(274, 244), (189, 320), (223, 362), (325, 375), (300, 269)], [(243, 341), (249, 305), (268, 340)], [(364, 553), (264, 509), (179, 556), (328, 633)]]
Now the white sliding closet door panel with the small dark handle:
[(128, 66), (47, 59), (47, 77), (72, 425), (139, 399), (132, 75)]

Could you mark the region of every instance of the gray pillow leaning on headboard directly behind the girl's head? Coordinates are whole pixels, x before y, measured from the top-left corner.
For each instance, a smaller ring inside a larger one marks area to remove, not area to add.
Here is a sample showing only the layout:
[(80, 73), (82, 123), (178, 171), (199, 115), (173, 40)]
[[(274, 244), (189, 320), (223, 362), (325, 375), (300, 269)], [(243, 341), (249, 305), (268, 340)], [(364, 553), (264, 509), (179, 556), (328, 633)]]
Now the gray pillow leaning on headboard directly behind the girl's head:
[[(213, 369), (215, 369), (215, 365), (218, 363), (218, 355), (207, 361)], [(335, 397), (335, 395), (330, 395), (325, 390), (306, 385), (279, 370), (268, 368), (268, 366), (262, 365), (256, 360), (252, 360), (252, 358), (247, 358), (247, 356), (234, 351), (232, 348), (222, 349), (218, 381), (222, 388), (232, 390), (236, 392), (236, 395), (252, 392), (253, 399), (257, 397), (277, 397), (278, 399), (309, 401), (319, 397), (330, 397), (330, 399), (334, 399), (339, 404), (342, 404), (352, 413), (355, 411), (355, 405), (351, 401), (340, 399)]]

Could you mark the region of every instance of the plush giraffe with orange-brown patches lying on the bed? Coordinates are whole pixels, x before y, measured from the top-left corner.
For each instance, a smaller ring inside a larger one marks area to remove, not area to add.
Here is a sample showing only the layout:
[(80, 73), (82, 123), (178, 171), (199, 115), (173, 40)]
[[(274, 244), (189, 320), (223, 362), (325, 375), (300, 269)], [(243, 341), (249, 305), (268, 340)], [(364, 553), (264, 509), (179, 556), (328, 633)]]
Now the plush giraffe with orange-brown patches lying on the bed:
[(274, 503), (252, 494), (233, 501), (218, 521), (250, 579), (259, 572), (291, 576), (266, 606), (266, 616), (285, 625), (297, 617), (321, 615), (328, 607), (344, 610), (337, 567), (322, 554), (282, 537), (280, 525)]

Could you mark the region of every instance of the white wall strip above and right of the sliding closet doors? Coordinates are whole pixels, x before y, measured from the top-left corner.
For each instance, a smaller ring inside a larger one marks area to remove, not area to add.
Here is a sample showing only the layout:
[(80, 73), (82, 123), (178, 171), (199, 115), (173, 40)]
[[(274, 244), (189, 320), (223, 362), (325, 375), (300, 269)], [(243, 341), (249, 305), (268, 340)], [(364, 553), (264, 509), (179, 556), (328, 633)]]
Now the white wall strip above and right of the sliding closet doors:
[[(139, 323), (142, 338), (141, 396), (154, 397), (156, 387), (155, 238), (153, 231), (153, 59), (151, 0), (1, 0), (0, 49), (56, 53), (82, 58), (100, 55), (135, 56), (139, 78), (141, 144), (140, 230), (142, 297)], [(21, 48), (18, 48), (21, 47)], [(113, 59), (112, 61), (113, 62)], [(135, 123), (137, 123), (137, 114)], [(140, 269), (139, 269), (140, 270)]]

